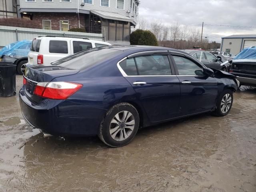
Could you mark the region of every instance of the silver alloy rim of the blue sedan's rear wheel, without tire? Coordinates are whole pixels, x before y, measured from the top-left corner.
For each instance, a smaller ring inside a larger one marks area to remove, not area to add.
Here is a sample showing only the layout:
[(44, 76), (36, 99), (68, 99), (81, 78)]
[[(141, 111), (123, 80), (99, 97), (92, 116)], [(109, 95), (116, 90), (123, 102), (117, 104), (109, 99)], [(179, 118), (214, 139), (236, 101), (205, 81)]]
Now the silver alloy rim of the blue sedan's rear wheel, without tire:
[(131, 112), (118, 112), (110, 122), (110, 136), (116, 141), (126, 140), (132, 134), (134, 126), (135, 120)]

